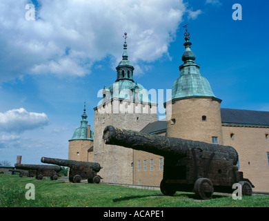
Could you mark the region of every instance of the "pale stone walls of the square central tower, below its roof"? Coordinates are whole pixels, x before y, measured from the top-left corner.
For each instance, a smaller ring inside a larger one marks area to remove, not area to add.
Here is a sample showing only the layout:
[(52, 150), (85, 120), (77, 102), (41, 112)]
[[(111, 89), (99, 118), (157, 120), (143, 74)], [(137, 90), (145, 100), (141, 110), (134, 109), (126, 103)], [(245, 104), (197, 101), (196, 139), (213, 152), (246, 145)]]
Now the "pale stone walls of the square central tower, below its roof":
[[(113, 106), (125, 106), (125, 113), (113, 112)], [(130, 108), (132, 106), (132, 108)], [(141, 111), (137, 111), (137, 108)], [(145, 111), (147, 110), (148, 111)], [(110, 112), (106, 112), (111, 110)], [(146, 113), (145, 113), (146, 112)], [(103, 130), (112, 125), (119, 128), (141, 131), (150, 122), (157, 120), (157, 105), (143, 104), (112, 99), (105, 105), (94, 108), (94, 162), (99, 162), (103, 169), (99, 175), (103, 182), (134, 184), (134, 151), (122, 146), (106, 145), (103, 142)]]

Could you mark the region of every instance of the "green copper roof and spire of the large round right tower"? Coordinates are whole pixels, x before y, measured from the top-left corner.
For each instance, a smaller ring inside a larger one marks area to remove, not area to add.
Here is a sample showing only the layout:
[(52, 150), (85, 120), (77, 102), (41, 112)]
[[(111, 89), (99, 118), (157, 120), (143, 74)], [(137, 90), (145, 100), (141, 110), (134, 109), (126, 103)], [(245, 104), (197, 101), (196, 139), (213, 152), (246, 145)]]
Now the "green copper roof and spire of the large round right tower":
[(200, 74), (199, 64), (195, 63), (196, 56), (190, 49), (192, 44), (189, 42), (190, 34), (187, 30), (184, 35), (186, 43), (183, 45), (186, 50), (181, 57), (184, 64), (179, 66), (180, 76), (173, 84), (172, 99), (194, 96), (215, 97), (208, 80)]

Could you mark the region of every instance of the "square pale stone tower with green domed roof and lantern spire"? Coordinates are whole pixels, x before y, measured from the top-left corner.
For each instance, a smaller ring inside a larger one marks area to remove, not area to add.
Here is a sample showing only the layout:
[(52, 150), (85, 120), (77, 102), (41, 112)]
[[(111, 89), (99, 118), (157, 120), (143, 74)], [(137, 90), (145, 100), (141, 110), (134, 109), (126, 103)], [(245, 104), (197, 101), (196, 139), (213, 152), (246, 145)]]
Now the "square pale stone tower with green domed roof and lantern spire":
[(106, 145), (103, 129), (108, 126), (140, 131), (157, 120), (157, 104), (148, 99), (148, 91), (133, 79), (135, 68), (128, 60), (127, 33), (124, 33), (122, 60), (117, 66), (114, 84), (103, 88), (103, 99), (94, 108), (94, 162), (103, 169), (103, 182), (133, 184), (134, 151), (122, 146)]

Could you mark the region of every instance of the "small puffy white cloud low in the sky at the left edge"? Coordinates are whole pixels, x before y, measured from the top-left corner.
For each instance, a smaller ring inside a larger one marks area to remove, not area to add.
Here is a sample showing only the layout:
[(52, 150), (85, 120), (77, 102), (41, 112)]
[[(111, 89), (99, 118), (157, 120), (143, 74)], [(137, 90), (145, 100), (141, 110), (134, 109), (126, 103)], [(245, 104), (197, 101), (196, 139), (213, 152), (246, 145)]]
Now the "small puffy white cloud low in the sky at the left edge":
[[(24, 108), (12, 109), (5, 113), (0, 112), (0, 131), (3, 132), (22, 133), (23, 131), (41, 128), (47, 124), (48, 116), (45, 113), (32, 113)], [(2, 138), (7, 139), (3, 136)]]

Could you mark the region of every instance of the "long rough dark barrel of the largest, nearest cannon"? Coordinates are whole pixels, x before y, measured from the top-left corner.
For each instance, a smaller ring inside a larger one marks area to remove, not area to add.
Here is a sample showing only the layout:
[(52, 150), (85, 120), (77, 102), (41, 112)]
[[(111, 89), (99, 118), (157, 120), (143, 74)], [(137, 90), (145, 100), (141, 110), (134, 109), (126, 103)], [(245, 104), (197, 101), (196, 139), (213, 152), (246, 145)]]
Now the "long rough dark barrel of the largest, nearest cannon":
[(104, 129), (103, 140), (105, 144), (124, 146), (138, 151), (154, 153), (163, 157), (178, 159), (186, 157), (189, 149), (198, 149), (200, 151), (226, 153), (228, 156), (227, 160), (232, 160), (234, 165), (236, 165), (238, 161), (238, 153), (232, 146), (209, 144), (176, 137), (164, 137), (138, 131), (128, 131), (111, 125), (106, 126)]

